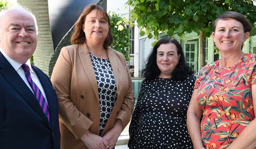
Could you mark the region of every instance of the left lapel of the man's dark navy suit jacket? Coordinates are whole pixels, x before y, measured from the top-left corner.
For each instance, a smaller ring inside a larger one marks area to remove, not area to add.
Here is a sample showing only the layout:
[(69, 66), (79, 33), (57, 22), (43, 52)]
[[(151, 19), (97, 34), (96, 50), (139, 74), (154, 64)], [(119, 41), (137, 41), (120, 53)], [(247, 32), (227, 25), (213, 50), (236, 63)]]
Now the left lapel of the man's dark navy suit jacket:
[(3, 54), (0, 52), (0, 73), (6, 78), (6, 80), (13, 86), (13, 88), (23, 97), (24, 100), (38, 113), (44, 120), (47, 121), (47, 117), (44, 115), (41, 106), (39, 105), (35, 95), (31, 92), (26, 83), (22, 80), (20, 75), (12, 67), (12, 65), (6, 60)]

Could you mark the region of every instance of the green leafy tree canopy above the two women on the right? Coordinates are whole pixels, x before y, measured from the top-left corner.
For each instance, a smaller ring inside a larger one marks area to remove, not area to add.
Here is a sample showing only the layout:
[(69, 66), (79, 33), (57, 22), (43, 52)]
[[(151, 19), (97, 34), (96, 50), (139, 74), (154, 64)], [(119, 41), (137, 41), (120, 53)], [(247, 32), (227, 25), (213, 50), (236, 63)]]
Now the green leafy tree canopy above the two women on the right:
[[(204, 40), (212, 33), (214, 20), (225, 11), (237, 11), (244, 14), (252, 23), (256, 22), (256, 6), (253, 0), (128, 0), (131, 10), (130, 20), (137, 20), (140, 35), (148, 38), (158, 36), (159, 32), (170, 37), (177, 32), (183, 38), (184, 33), (201, 30)], [(251, 35), (256, 34), (253, 28)]]

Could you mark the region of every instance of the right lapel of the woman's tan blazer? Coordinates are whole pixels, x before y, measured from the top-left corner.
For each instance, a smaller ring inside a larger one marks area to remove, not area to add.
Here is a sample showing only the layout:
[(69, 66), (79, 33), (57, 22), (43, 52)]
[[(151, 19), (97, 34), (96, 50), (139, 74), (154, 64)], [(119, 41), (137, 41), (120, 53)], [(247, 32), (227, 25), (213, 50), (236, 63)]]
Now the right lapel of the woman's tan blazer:
[(108, 59), (110, 61), (114, 76), (115, 76), (115, 80), (116, 80), (116, 89), (118, 92), (118, 87), (119, 87), (119, 73), (118, 73), (118, 63), (116, 60), (116, 55), (114, 54), (114, 52), (111, 49), (107, 49), (107, 55), (108, 55)]

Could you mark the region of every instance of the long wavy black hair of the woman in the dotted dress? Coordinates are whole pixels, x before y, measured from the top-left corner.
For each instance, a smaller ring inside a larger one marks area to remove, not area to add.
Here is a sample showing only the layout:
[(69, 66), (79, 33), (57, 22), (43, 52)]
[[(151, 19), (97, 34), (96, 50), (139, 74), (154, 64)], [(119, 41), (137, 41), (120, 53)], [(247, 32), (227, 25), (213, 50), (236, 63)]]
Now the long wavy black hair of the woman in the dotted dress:
[(160, 75), (161, 71), (157, 66), (157, 49), (161, 44), (168, 43), (175, 44), (177, 47), (177, 54), (180, 54), (179, 63), (177, 64), (175, 70), (172, 72), (172, 79), (177, 81), (185, 80), (188, 75), (193, 75), (195, 73), (186, 63), (180, 43), (178, 43), (174, 38), (164, 37), (156, 43), (148, 56), (145, 69), (142, 70), (142, 75), (145, 80), (153, 80)]

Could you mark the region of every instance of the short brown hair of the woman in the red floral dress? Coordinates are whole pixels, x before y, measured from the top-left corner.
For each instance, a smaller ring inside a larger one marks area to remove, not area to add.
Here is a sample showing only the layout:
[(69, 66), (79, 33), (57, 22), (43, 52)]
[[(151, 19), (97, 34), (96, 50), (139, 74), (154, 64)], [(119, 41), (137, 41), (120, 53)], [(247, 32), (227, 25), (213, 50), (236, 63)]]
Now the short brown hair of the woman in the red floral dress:
[(215, 32), (218, 20), (229, 20), (229, 19), (235, 19), (235, 20), (239, 21), (243, 25), (245, 33), (250, 32), (252, 30), (252, 25), (250, 24), (250, 22), (247, 20), (247, 18), (243, 14), (240, 14), (235, 11), (227, 11), (227, 12), (221, 14), (220, 16), (218, 16), (218, 18), (214, 21), (213, 26), (212, 26), (213, 32)]

